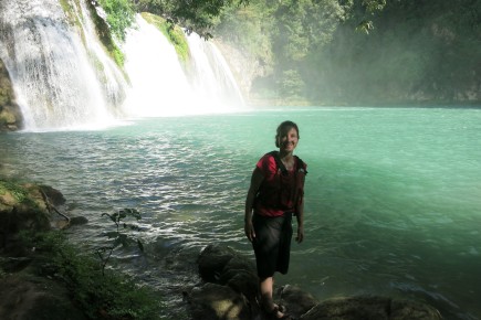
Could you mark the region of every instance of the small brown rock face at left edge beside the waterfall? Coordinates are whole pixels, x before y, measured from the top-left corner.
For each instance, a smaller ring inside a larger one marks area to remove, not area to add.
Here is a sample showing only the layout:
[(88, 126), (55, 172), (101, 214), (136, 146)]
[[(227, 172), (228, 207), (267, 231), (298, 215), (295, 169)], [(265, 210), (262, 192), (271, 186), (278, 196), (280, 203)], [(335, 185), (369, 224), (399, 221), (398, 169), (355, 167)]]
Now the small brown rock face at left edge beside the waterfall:
[(0, 60), (0, 131), (14, 131), (23, 127), (23, 117), (10, 81), (9, 72)]

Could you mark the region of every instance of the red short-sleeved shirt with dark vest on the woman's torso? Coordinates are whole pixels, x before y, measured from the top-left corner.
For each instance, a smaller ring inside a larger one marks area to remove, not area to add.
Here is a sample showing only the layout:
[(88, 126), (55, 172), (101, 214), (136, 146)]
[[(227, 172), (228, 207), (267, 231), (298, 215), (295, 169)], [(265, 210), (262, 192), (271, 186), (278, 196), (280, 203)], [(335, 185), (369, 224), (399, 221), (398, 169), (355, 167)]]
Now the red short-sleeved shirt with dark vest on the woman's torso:
[(282, 173), (278, 168), (272, 154), (264, 154), (258, 162), (264, 180), (258, 190), (254, 201), (254, 212), (264, 216), (281, 216), (284, 213), (295, 211), (296, 198), (296, 170), (297, 161), (293, 170)]

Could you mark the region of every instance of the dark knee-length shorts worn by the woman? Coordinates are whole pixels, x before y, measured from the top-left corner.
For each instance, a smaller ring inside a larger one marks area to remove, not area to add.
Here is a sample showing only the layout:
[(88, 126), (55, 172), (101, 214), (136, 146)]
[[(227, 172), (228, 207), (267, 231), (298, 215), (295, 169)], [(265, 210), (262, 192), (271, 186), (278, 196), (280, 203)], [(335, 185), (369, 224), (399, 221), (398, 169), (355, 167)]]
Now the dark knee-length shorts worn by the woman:
[(275, 271), (285, 275), (291, 255), (292, 214), (276, 217), (254, 214), (252, 223), (255, 231), (252, 246), (259, 278), (272, 277)]

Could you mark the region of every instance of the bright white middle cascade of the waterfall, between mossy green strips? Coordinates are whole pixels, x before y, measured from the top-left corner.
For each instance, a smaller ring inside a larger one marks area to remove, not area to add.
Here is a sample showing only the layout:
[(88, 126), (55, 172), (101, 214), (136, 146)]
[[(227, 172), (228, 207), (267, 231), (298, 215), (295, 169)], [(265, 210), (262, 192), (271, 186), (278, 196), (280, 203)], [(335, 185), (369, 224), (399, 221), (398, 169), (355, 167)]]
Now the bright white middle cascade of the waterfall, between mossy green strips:
[(174, 46), (140, 15), (136, 24), (123, 46), (132, 84), (126, 109), (144, 117), (188, 114), (194, 97)]

